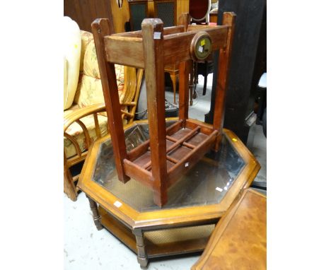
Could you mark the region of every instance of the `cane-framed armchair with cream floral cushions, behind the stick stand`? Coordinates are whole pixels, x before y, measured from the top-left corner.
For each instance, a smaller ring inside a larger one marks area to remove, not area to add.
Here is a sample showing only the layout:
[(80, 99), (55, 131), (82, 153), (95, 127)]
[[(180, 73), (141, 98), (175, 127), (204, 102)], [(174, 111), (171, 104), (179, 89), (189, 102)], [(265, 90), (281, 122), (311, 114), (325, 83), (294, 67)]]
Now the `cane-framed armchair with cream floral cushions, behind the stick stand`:
[[(66, 59), (64, 60), (66, 64)], [(66, 66), (64, 70), (66, 72)], [(143, 70), (115, 65), (115, 74), (122, 105), (122, 121), (123, 124), (127, 124), (134, 119)], [(88, 148), (95, 139), (108, 133), (105, 100), (93, 35), (83, 30), (79, 81), (74, 101), (71, 105), (65, 102), (65, 106), (68, 109), (64, 110), (64, 192), (75, 201), (77, 190), (74, 182), (78, 180), (79, 175), (73, 177), (69, 169), (85, 160)]]

